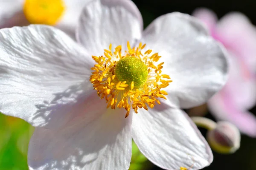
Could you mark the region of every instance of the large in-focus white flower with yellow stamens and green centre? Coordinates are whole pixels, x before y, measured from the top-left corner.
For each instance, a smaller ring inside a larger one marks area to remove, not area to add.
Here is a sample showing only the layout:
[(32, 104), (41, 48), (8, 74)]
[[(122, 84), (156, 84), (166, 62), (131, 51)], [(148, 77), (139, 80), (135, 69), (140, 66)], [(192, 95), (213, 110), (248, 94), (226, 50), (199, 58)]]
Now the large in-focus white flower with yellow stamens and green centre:
[(132, 139), (163, 169), (212, 162), (180, 109), (226, 81), (225, 51), (197, 19), (166, 14), (143, 31), (132, 1), (94, 0), (76, 38), (43, 25), (0, 30), (0, 111), (36, 127), (31, 170), (127, 170)]

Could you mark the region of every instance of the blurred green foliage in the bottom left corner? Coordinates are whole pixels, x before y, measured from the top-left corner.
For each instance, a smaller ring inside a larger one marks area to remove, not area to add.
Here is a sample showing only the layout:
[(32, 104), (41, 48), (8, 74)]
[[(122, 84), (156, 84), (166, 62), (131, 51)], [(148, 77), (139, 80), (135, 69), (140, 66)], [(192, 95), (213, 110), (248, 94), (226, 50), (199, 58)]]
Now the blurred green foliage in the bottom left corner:
[(33, 127), (0, 113), (0, 170), (28, 170), (27, 150)]

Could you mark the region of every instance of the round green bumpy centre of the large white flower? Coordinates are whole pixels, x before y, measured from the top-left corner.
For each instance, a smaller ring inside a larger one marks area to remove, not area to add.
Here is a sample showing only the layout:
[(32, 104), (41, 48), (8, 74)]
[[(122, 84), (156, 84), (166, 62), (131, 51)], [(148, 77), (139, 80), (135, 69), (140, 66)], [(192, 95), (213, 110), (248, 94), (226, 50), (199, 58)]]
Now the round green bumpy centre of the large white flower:
[(127, 85), (134, 82), (134, 88), (140, 88), (145, 84), (148, 70), (145, 63), (137, 57), (124, 57), (116, 63), (115, 74), (119, 81), (126, 81)]

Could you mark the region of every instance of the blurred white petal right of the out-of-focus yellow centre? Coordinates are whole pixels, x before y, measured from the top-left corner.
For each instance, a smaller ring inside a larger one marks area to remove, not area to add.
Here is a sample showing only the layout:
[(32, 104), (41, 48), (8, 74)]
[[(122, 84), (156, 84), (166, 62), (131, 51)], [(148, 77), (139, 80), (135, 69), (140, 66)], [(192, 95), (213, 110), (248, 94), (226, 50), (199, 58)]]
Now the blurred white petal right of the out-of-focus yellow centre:
[(64, 15), (56, 27), (65, 31), (75, 39), (75, 32), (79, 23), (79, 16), (82, 9), (88, 2), (90, 2), (90, 0), (64, 0)]

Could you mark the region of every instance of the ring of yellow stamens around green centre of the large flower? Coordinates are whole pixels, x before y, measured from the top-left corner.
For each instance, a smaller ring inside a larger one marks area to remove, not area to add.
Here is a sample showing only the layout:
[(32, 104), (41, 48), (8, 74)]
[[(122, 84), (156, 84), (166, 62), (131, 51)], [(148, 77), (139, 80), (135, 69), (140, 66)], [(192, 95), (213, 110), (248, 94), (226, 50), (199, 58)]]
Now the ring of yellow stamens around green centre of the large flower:
[[(107, 108), (125, 108), (125, 117), (132, 108), (138, 113), (138, 108), (148, 110), (159, 104), (157, 98), (166, 99), (165, 88), (172, 80), (169, 75), (161, 74), (163, 62), (156, 64), (161, 56), (158, 53), (151, 54), (148, 49), (144, 53), (141, 50), (145, 44), (139, 44), (137, 48), (131, 48), (127, 42), (127, 51), (122, 54), (122, 46), (119, 45), (112, 52), (112, 45), (104, 50), (104, 56), (92, 56), (96, 62), (94, 72), (90, 76), (90, 82), (101, 99), (106, 99)], [(148, 105), (148, 106), (147, 106)]]

